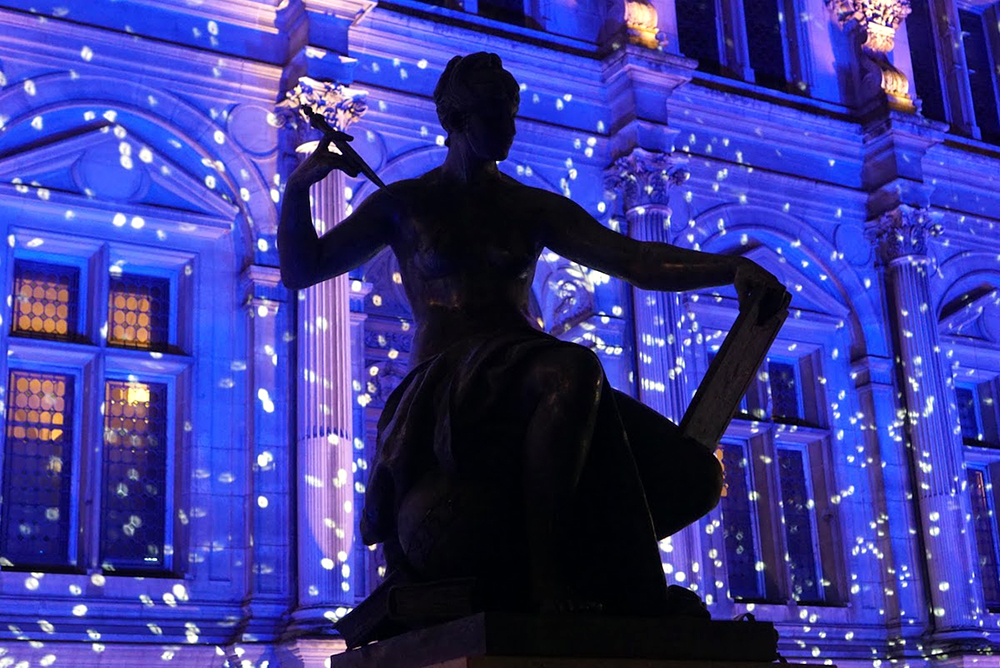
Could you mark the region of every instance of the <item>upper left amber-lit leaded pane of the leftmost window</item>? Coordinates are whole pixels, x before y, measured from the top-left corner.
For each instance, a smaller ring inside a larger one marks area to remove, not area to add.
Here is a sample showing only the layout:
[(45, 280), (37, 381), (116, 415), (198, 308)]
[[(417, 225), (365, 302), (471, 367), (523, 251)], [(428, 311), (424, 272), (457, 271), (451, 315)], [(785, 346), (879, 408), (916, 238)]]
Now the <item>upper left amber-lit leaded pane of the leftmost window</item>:
[(80, 270), (76, 267), (15, 261), (14, 333), (73, 338), (79, 298)]

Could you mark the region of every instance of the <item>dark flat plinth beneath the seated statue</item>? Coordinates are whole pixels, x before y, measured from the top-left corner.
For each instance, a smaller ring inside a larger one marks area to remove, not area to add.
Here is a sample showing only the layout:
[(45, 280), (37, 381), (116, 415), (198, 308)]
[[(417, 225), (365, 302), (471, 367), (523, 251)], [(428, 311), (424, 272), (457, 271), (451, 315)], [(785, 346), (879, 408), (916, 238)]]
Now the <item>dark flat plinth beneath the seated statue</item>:
[(334, 655), (330, 668), (761, 668), (769, 622), (479, 613)]

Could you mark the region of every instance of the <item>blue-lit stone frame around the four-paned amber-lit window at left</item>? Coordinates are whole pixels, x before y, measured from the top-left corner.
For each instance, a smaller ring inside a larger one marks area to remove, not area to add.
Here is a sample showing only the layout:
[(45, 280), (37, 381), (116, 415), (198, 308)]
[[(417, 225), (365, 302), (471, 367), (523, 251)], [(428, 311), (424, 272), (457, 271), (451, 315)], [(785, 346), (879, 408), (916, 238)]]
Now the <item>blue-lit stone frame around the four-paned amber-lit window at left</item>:
[[(40, 240), (36, 241), (36, 240)], [(43, 249), (43, 250), (39, 250)], [(3, 336), (7, 343), (5, 379), (11, 369), (74, 374), (73, 447), (70, 498), (73, 524), (71, 553), (65, 567), (46, 567), (44, 572), (102, 574), (128, 577), (183, 577), (186, 536), (178, 526), (178, 508), (185, 494), (181, 447), (185, 416), (190, 401), (194, 359), (194, 323), (190, 321), (194, 284), (187, 267), (194, 268), (196, 253), (150, 248), (139, 244), (63, 236), (58, 232), (12, 226), (8, 235), (8, 287)], [(80, 269), (78, 318), (83, 322), (76, 341), (60, 341), (21, 335), (12, 330), (14, 263), (17, 259), (67, 264)], [(106, 336), (110, 314), (111, 268), (122, 266), (122, 274), (167, 278), (170, 282), (168, 346), (164, 351), (116, 346)], [(84, 287), (86, 285), (86, 288)], [(188, 321), (180, 322), (187, 317)], [(0, 326), (3, 323), (0, 322)], [(106, 381), (155, 382), (166, 386), (166, 471), (164, 490), (164, 543), (162, 566), (156, 569), (105, 569), (101, 545), (101, 478), (103, 471), (104, 401)], [(5, 380), (6, 383), (6, 380)], [(8, 388), (9, 391), (9, 388)], [(6, 418), (6, 402), (0, 403)], [(94, 444), (94, 447), (87, 447)], [(100, 444), (102, 447), (97, 447)], [(6, 451), (6, 429), (0, 433), (0, 474)], [(4, 567), (0, 571), (38, 571), (38, 567)]]

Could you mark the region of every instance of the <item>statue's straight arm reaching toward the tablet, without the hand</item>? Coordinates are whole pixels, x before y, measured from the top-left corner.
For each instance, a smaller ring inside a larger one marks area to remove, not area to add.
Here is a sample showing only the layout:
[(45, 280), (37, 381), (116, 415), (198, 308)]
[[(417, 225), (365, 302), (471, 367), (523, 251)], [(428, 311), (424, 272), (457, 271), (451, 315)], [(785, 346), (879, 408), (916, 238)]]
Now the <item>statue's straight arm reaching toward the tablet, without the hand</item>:
[(548, 248), (637, 288), (696, 290), (734, 283), (737, 274), (747, 270), (766, 274), (745, 258), (630, 239), (605, 228), (581, 206), (559, 195), (549, 195), (545, 210), (544, 243)]

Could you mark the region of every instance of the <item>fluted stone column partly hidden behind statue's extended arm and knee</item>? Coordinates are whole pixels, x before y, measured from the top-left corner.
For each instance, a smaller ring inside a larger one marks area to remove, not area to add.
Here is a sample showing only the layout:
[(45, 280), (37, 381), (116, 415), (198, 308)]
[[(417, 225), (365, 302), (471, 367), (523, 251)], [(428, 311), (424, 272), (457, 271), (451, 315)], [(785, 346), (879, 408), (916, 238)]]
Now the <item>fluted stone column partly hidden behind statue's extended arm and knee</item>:
[[(611, 165), (606, 185), (622, 199), (630, 237), (670, 243), (670, 190), (687, 179), (685, 162), (679, 156), (636, 148)], [(632, 288), (638, 399), (674, 423), (683, 417), (693, 389), (687, 382), (681, 345), (681, 298), (676, 292)], [(670, 584), (698, 586), (704, 564), (699, 564), (697, 573), (691, 564), (699, 561), (699, 546), (696, 525), (661, 543)], [(701, 587), (698, 590), (705, 593)]]

